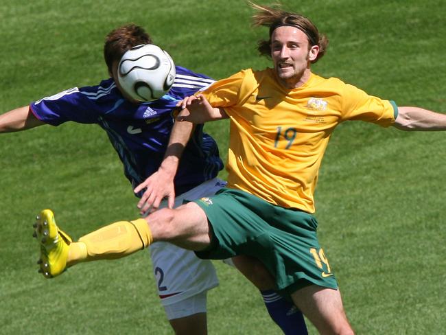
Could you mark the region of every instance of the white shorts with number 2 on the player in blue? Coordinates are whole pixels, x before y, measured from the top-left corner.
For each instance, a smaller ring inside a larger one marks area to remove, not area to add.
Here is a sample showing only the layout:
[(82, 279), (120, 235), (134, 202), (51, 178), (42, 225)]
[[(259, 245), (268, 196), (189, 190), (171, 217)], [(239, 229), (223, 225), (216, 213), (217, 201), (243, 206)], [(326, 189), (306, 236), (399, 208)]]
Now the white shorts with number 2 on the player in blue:
[[(218, 178), (206, 181), (177, 196), (174, 207), (183, 205), (185, 200), (212, 196), (224, 185), (226, 183)], [(160, 208), (162, 207), (167, 207), (167, 201), (161, 203)], [(200, 259), (193, 251), (182, 249), (169, 242), (155, 242), (149, 246), (149, 251), (156, 286), (161, 303), (165, 307), (167, 319), (178, 319), (198, 312), (206, 312), (205, 294), (204, 299), (199, 299), (199, 304), (187, 302), (185, 299), (218, 286), (217, 274), (211, 261)]]

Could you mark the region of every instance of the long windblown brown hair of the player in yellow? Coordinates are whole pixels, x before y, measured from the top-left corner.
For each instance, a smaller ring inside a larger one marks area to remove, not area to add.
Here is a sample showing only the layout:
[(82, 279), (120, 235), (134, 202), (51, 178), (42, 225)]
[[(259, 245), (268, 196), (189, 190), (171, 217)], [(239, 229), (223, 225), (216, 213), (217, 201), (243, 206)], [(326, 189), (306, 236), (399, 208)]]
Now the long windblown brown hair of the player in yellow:
[(292, 27), (296, 27), (298, 30), (301, 30), (308, 38), (309, 47), (313, 45), (318, 45), (319, 53), (315, 60), (312, 62), (317, 62), (319, 58), (324, 56), (325, 51), (328, 46), (328, 38), (325, 34), (320, 34), (318, 28), (312, 21), (310, 21), (307, 17), (294, 13), (294, 12), (285, 12), (285, 10), (281, 10), (279, 5), (275, 5), (274, 7), (268, 7), (266, 5), (257, 5), (253, 2), (248, 1), (251, 7), (255, 8), (257, 12), (253, 15), (253, 25), (256, 27), (264, 26), (269, 27), (270, 36), (268, 40), (261, 40), (257, 45), (257, 50), (262, 56), (271, 56), (271, 35), (272, 32), (277, 27), (282, 27), (283, 25), (288, 25)]

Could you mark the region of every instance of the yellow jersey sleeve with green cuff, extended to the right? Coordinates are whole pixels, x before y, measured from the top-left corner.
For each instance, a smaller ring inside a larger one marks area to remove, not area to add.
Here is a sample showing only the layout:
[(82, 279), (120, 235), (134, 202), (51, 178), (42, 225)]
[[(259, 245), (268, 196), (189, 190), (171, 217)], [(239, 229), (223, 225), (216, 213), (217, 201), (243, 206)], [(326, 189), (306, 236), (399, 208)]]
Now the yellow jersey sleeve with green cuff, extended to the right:
[(395, 102), (368, 95), (350, 84), (345, 84), (342, 94), (342, 121), (361, 120), (384, 127), (395, 123), (398, 115)]

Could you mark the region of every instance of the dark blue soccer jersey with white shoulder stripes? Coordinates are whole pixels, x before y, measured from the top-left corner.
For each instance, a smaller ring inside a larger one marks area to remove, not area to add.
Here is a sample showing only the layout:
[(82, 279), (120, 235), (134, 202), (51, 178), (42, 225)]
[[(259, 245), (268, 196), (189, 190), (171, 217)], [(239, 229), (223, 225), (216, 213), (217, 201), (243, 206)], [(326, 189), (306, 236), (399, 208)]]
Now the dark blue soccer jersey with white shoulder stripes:
[[(172, 89), (153, 102), (128, 102), (109, 78), (97, 86), (75, 87), (44, 97), (32, 102), (30, 108), (38, 119), (53, 126), (67, 121), (99, 124), (124, 164), (132, 187), (136, 187), (163, 161), (176, 103), (212, 82), (207, 76), (176, 67)], [(174, 180), (176, 194), (214, 178), (223, 168), (217, 144), (202, 128), (196, 126), (183, 152)]]

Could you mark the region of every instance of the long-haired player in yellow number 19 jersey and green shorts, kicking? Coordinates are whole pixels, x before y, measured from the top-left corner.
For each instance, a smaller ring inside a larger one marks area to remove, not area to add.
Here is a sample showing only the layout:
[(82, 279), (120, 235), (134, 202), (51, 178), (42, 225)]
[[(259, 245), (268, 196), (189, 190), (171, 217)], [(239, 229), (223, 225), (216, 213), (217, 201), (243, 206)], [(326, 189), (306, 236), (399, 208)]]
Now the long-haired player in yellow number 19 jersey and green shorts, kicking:
[[(345, 120), (446, 130), (446, 115), (396, 106), (316, 76), (311, 65), (325, 53), (327, 38), (300, 14), (253, 7), (255, 25), (270, 28), (259, 50), (270, 56), (273, 68), (240, 71), (178, 105), (183, 122), (231, 119), (228, 187), (177, 209), (115, 222), (79, 242), (58, 238), (57, 247), (43, 244), (43, 268), (60, 271), (78, 262), (121, 257), (159, 240), (203, 258), (244, 255), (239, 262), (258, 266), (260, 261), (275, 288), (290, 294), (321, 334), (353, 334), (313, 216), (314, 187), (331, 132)], [(150, 196), (141, 198), (141, 209), (150, 206)], [(42, 228), (39, 221), (36, 229)], [(58, 253), (60, 244), (68, 246), (64, 253)]]

